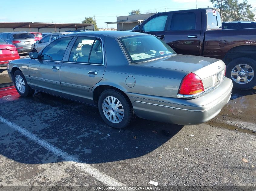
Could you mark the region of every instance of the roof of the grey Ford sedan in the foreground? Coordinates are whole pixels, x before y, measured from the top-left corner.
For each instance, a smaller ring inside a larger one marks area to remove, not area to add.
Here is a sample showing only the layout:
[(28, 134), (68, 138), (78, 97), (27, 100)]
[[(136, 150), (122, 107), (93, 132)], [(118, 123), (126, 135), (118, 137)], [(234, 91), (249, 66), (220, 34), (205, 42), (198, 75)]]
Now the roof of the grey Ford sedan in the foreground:
[(84, 34), (87, 35), (101, 35), (101, 36), (111, 36), (116, 38), (121, 37), (128, 37), (128, 36), (136, 36), (136, 35), (148, 35), (145, 33), (137, 33), (137, 32), (130, 32), (130, 31), (120, 31), (120, 30), (101, 30), (101, 31), (87, 31), (87, 32), (79, 32), (79, 33), (71, 33), (65, 36), (73, 36), (73, 35), (80, 35)]

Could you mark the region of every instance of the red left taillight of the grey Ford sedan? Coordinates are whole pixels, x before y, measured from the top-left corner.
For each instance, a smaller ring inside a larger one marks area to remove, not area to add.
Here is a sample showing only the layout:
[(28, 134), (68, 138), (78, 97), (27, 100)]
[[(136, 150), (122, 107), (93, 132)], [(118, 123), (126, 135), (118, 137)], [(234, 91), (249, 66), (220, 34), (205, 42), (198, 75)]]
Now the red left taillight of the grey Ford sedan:
[(202, 80), (194, 73), (189, 73), (181, 81), (178, 91), (179, 98), (195, 98), (204, 94), (204, 86)]

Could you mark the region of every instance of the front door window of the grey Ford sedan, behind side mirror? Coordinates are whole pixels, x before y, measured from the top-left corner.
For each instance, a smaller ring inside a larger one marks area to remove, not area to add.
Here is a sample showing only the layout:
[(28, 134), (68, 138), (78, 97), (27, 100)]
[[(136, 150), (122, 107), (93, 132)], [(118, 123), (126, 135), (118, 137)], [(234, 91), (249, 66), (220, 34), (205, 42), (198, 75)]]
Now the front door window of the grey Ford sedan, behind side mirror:
[(50, 43), (42, 52), (43, 60), (62, 61), (64, 53), (73, 37), (64, 37)]

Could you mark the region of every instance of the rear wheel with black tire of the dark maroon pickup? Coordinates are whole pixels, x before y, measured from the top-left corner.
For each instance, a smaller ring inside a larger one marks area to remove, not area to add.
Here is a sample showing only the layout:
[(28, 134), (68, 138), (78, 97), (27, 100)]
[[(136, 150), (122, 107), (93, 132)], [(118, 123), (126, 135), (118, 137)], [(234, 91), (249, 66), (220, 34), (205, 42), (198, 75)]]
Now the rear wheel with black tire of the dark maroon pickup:
[(251, 58), (241, 57), (232, 60), (227, 65), (226, 76), (233, 82), (233, 87), (248, 90), (256, 85), (256, 61)]

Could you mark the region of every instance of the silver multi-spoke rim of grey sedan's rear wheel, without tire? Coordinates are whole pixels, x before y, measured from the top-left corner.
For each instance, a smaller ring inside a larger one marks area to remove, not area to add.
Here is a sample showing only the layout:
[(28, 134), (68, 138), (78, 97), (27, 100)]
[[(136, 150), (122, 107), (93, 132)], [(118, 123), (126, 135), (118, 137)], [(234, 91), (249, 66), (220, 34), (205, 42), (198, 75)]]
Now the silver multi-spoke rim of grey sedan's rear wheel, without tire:
[(123, 105), (113, 96), (108, 96), (104, 99), (102, 110), (105, 117), (112, 123), (120, 123), (124, 118)]

